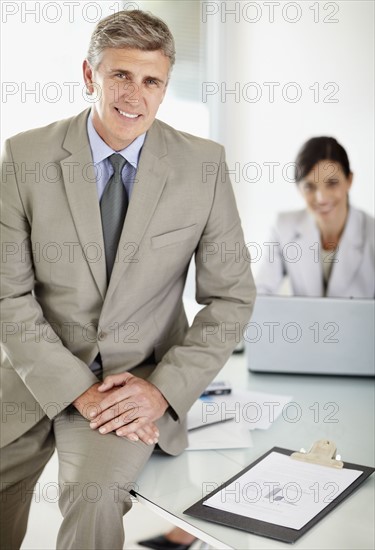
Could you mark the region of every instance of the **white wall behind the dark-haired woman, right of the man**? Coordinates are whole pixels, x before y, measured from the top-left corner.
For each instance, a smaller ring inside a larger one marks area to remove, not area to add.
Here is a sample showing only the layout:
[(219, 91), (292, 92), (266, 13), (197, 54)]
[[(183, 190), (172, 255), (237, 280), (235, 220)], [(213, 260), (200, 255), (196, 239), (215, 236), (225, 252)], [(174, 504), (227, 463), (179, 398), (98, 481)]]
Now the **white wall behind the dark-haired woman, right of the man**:
[[(334, 136), (346, 148), (355, 175), (351, 201), (373, 214), (374, 3), (319, 2), (318, 13), (311, 9), (317, 2), (274, 2), (273, 22), (267, 2), (254, 4), (203, 6), (216, 42), (208, 82), (223, 91), (215, 94), (211, 84), (206, 97), (212, 134), (226, 145), (229, 169), (240, 166), (235, 189), (247, 241), (263, 242), (277, 211), (303, 206), (286, 166), (312, 136)], [(265, 82), (278, 84), (273, 101)], [(301, 98), (292, 102), (297, 90)], [(274, 181), (266, 162), (280, 163)]]

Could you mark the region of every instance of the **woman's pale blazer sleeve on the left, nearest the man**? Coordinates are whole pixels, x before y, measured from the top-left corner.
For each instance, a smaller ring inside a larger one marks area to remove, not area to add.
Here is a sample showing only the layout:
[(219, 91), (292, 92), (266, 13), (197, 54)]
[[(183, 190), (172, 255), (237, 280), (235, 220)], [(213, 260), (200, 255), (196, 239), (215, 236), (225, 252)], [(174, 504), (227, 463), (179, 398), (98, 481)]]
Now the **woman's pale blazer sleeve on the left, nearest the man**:
[(255, 278), (258, 294), (277, 294), (280, 288), (286, 275), (281, 246), (276, 222), (262, 250), (261, 264)]

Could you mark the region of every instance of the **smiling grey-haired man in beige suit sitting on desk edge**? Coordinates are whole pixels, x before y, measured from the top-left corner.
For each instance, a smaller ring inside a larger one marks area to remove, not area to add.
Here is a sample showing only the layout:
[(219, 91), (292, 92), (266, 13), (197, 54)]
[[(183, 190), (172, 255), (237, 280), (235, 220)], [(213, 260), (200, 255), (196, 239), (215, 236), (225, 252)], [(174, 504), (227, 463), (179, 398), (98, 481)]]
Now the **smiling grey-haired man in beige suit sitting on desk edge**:
[[(20, 547), (55, 447), (57, 547), (122, 548), (129, 487), (157, 442), (169, 454), (186, 447), (186, 414), (250, 317), (255, 290), (223, 148), (155, 120), (173, 62), (162, 21), (110, 16), (83, 66), (91, 111), (5, 144), (3, 549)], [(113, 265), (110, 183), (128, 204)], [(189, 327), (192, 256), (205, 307)]]

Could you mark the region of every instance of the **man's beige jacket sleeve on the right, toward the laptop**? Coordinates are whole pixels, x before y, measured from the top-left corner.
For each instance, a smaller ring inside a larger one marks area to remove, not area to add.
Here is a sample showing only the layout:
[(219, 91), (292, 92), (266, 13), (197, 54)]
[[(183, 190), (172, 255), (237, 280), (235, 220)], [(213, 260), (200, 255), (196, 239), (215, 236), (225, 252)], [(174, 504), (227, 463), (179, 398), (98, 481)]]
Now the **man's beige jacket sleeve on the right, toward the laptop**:
[(171, 348), (149, 377), (179, 418), (186, 415), (241, 341), (255, 301), (250, 258), (224, 153), (195, 263), (196, 300), (205, 307), (196, 315), (182, 345)]

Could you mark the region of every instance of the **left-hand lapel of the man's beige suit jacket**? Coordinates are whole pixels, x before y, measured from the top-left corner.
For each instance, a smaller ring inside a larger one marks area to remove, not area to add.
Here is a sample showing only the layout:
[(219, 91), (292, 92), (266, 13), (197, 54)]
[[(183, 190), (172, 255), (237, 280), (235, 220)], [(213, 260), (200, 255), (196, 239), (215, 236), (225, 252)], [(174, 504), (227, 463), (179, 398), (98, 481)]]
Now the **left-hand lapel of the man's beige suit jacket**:
[(95, 170), (86, 130), (88, 115), (89, 110), (86, 110), (72, 120), (63, 143), (64, 149), (71, 154), (60, 165), (78, 238), (104, 298), (107, 284), (104, 242)]

